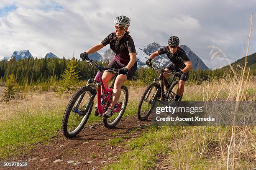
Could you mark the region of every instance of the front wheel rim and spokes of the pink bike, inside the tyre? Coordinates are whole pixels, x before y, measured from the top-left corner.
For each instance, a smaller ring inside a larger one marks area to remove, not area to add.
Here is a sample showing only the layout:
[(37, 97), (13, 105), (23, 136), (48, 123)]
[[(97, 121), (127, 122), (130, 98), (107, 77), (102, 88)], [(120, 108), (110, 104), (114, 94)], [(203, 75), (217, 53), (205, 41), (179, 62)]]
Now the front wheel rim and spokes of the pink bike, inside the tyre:
[[(82, 98), (81, 103), (77, 106), (77, 109), (75, 109), (74, 107), (77, 105), (79, 98), (83, 94), (84, 94), (84, 96)], [(79, 96), (79, 98), (75, 102), (75, 104), (69, 114), (69, 119), (68, 119), (68, 123), (67, 123), (67, 131), (69, 134), (77, 133), (77, 131), (79, 131), (80, 127), (84, 124), (84, 121), (87, 119), (90, 109), (88, 109), (87, 113), (84, 116), (82, 116), (82, 114), (84, 114), (86, 107), (91, 107), (91, 106), (87, 106), (90, 96), (92, 96), (90, 91), (85, 91), (84, 93), (82, 93)]]

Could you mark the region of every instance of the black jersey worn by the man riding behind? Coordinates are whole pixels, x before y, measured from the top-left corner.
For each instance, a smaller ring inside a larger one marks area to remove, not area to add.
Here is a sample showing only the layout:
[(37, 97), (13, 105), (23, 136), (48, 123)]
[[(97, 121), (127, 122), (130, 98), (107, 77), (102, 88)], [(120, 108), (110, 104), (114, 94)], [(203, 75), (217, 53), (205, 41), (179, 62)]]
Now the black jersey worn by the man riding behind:
[(160, 48), (157, 52), (159, 53), (159, 55), (166, 54), (166, 56), (172, 61), (174, 66), (179, 69), (184, 69), (186, 66), (184, 63), (190, 61), (185, 51), (180, 47), (178, 47), (176, 53), (174, 54), (171, 53), (169, 46)]

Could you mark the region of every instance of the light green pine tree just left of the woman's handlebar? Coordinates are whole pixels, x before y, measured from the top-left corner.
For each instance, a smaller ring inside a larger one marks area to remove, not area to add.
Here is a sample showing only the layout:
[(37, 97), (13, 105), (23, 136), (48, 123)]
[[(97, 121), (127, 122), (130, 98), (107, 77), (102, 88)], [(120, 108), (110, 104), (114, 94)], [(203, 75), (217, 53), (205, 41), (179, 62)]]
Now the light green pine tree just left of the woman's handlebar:
[(79, 81), (79, 72), (75, 71), (77, 65), (75, 58), (72, 58), (72, 60), (68, 62), (67, 69), (65, 69), (64, 73), (61, 74), (63, 80), (59, 83), (59, 93), (74, 91), (77, 88)]

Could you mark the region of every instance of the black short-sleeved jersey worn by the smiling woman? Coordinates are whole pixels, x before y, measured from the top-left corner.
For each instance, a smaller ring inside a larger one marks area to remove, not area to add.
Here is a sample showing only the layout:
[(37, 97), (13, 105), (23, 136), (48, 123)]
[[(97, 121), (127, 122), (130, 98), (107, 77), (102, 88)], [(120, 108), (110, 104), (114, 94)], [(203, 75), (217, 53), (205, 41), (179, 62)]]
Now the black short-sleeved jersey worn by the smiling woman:
[(103, 46), (110, 45), (110, 48), (115, 53), (114, 60), (121, 66), (127, 66), (129, 63), (131, 59), (129, 53), (136, 53), (133, 38), (127, 33), (119, 41), (115, 32), (110, 33), (101, 43)]

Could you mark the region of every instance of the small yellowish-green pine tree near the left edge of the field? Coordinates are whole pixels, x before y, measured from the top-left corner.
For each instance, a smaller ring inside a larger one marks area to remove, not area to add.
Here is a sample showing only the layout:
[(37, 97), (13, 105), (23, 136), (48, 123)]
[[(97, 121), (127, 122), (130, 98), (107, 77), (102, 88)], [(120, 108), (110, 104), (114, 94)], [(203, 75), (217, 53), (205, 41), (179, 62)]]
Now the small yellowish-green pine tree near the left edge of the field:
[(15, 79), (15, 76), (13, 74), (11, 74), (7, 79), (6, 88), (5, 88), (5, 91), (3, 94), (3, 100), (9, 101), (9, 100), (15, 98), (16, 84), (17, 84), (17, 82)]

